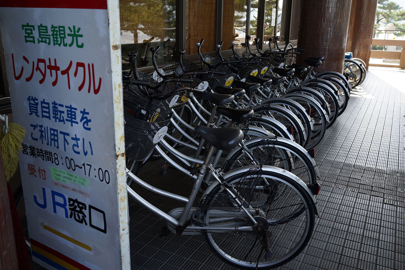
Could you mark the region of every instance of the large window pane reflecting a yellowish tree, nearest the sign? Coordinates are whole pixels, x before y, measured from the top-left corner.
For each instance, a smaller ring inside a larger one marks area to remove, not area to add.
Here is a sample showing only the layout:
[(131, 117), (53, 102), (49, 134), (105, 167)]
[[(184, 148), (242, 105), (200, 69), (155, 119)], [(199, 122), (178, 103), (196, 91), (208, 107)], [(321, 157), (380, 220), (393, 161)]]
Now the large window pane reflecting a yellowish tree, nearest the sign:
[(151, 47), (160, 46), (156, 62), (173, 62), (176, 37), (175, 0), (119, 0), (123, 69), (128, 52), (138, 51), (138, 66), (151, 66)]

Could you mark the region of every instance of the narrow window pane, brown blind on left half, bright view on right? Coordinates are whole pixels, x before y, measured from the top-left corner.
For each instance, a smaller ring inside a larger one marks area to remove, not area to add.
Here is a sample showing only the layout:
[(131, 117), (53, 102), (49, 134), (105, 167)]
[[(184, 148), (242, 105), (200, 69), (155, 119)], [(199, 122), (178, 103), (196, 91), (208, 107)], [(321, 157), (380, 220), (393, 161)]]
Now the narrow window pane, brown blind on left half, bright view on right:
[(222, 15), (222, 49), (228, 49), (235, 41), (235, 48), (245, 47), (246, 36), (246, 0), (224, 0)]

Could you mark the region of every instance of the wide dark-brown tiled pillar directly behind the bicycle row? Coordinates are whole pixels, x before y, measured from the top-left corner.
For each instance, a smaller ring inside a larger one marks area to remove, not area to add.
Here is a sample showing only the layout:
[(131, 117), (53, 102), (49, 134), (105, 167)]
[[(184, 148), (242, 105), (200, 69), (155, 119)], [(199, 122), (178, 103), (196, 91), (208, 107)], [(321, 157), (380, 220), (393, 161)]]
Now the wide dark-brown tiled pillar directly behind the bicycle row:
[(317, 72), (343, 71), (351, 4), (352, 0), (302, 1), (297, 47), (305, 51), (298, 63), (324, 56)]

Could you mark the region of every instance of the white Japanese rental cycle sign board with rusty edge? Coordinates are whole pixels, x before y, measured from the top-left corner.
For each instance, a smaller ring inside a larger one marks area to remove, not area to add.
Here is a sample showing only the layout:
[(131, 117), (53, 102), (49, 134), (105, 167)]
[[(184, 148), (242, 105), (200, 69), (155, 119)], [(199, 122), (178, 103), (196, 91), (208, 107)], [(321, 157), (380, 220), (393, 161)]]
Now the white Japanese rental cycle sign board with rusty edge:
[(0, 6), (32, 257), (129, 269), (118, 1)]

